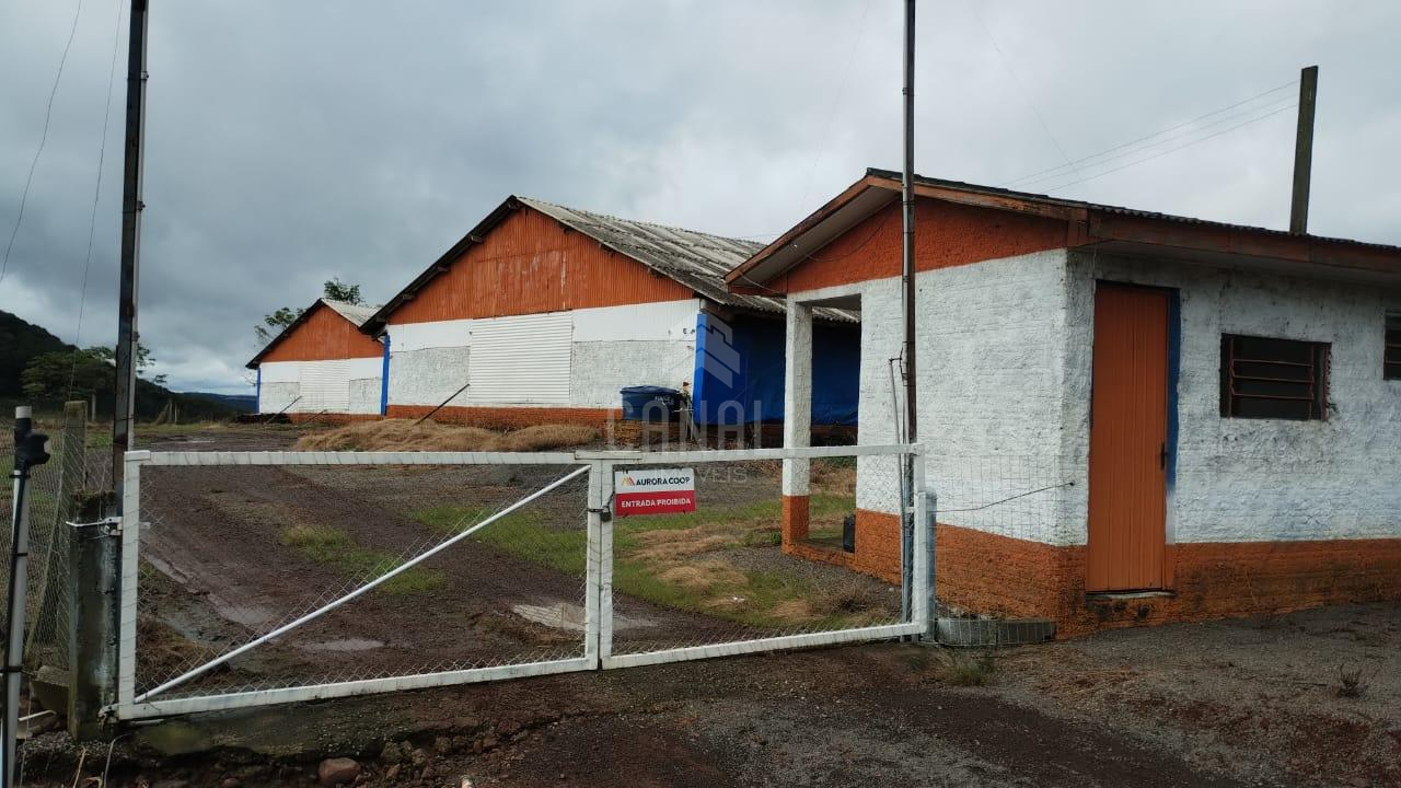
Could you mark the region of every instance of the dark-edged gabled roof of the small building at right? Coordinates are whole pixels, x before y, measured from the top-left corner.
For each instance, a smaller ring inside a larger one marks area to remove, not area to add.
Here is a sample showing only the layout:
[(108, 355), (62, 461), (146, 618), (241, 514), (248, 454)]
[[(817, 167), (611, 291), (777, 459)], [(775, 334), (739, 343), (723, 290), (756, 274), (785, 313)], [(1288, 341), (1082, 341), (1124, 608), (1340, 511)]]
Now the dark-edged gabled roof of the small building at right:
[[(731, 271), (726, 282), (738, 292), (764, 287), (860, 220), (897, 202), (899, 189), (899, 172), (867, 170), (866, 177)], [(1126, 254), (1216, 262), (1251, 258), (1355, 279), (1401, 275), (1401, 247), (1387, 244), (1293, 234), (925, 175), (915, 175), (915, 195), (1065, 220), (1066, 247), (1103, 244), (1100, 248)]]

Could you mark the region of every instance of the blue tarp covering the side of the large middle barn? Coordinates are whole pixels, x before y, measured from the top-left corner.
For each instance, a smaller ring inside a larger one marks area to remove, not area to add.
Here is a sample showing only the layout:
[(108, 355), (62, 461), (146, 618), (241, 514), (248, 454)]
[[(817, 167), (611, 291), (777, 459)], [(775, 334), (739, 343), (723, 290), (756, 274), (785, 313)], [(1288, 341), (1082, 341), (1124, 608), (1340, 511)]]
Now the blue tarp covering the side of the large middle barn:
[[(813, 423), (855, 425), (860, 391), (859, 325), (813, 327)], [(696, 318), (692, 391), (696, 423), (783, 421), (783, 322)]]

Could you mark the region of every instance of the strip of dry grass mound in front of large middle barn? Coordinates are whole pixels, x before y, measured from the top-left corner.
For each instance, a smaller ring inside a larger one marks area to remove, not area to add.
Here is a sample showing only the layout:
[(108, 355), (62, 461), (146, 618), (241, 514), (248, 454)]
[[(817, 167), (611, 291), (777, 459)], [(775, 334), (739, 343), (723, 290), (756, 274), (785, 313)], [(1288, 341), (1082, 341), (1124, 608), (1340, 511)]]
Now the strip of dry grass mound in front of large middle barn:
[(492, 432), (432, 421), (409, 419), (353, 422), (297, 439), (300, 451), (542, 451), (584, 446), (598, 430), (573, 423), (542, 423), (514, 432)]

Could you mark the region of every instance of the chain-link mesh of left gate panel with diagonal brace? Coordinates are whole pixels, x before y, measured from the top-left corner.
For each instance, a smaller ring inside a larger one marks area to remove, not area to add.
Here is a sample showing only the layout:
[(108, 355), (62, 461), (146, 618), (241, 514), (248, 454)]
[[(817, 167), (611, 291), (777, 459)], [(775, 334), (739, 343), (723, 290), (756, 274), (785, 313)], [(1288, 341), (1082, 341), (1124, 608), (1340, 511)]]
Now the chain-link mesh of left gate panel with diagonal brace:
[[(154, 454), (140, 467), (137, 702), (586, 655), (587, 473), (403, 569), (577, 464), (248, 457)], [(395, 569), (370, 592), (163, 688)]]

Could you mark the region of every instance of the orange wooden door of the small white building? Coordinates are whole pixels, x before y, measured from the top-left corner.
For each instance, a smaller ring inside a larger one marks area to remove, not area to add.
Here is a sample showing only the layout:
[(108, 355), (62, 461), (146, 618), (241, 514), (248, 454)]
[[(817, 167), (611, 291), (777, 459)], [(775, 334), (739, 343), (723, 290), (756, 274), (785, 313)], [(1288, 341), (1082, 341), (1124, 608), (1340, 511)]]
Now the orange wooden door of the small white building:
[(1086, 590), (1166, 586), (1170, 294), (1094, 293)]

